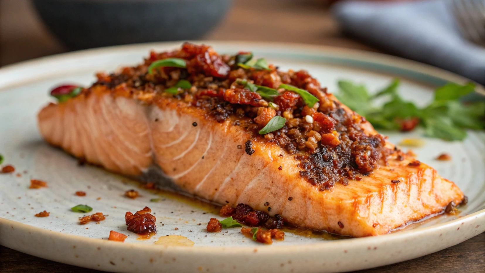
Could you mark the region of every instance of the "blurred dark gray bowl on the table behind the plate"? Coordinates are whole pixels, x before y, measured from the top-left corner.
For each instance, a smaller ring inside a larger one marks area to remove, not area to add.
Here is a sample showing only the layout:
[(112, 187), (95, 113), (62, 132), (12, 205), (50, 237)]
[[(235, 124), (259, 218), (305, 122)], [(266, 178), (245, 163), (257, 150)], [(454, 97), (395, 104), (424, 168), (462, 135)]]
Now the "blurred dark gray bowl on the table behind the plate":
[(232, 0), (33, 0), (49, 29), (71, 49), (199, 39)]

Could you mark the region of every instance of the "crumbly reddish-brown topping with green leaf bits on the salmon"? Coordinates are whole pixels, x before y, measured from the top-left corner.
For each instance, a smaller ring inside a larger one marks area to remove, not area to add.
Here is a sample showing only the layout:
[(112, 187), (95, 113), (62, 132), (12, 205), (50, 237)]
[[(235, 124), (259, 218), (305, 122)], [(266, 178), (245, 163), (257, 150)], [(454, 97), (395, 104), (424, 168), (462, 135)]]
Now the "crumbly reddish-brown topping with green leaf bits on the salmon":
[[(152, 65), (168, 58), (185, 61), (185, 67)], [(366, 134), (361, 128), (366, 120), (347, 112), (307, 71), (284, 72), (251, 58), (249, 52), (219, 55), (209, 46), (185, 43), (174, 51), (152, 51), (143, 64), (119, 73), (97, 74), (94, 85), (146, 103), (176, 99), (217, 122), (228, 120), (252, 135), (245, 143), (248, 155), (255, 152), (254, 141), (279, 145), (301, 161), (300, 175), (322, 191), (360, 180), (385, 160), (385, 138)], [(275, 117), (284, 118), (284, 125), (260, 134)]]

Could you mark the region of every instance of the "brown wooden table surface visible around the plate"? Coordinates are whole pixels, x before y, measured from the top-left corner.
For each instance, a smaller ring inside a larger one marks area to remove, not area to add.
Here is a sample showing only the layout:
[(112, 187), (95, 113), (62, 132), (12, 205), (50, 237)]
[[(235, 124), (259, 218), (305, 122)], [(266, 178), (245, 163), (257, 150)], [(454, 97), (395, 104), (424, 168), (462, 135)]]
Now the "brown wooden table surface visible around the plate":
[[(343, 36), (324, 0), (235, 0), (207, 39), (307, 43), (381, 51)], [(65, 52), (28, 0), (0, 0), (0, 66)], [(0, 246), (1, 273), (94, 273)], [(485, 273), (485, 233), (434, 254), (361, 273)]]

